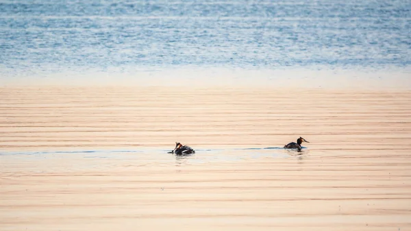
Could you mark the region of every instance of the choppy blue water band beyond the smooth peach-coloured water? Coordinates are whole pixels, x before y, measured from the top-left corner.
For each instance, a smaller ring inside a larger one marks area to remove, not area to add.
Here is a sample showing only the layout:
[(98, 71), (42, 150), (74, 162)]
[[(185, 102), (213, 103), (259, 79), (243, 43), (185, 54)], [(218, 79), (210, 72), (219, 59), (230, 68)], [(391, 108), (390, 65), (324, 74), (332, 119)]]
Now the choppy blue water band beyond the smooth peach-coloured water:
[(0, 76), (403, 69), (411, 1), (0, 1)]

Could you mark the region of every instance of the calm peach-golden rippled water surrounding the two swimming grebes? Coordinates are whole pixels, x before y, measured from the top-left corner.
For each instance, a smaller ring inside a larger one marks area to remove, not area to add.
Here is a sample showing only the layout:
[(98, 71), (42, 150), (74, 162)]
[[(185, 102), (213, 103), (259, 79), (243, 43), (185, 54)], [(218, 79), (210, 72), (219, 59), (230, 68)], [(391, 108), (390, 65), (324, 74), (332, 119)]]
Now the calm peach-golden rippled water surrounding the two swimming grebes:
[[(0, 230), (411, 229), (410, 91), (5, 87), (0, 97)], [(281, 149), (299, 136), (308, 149)], [(166, 154), (175, 141), (197, 154)]]

